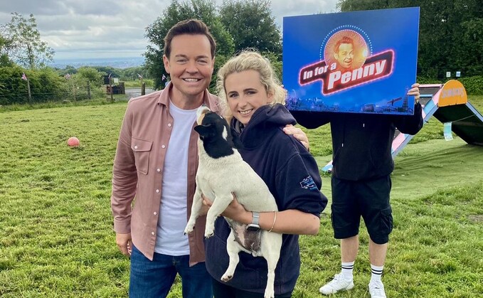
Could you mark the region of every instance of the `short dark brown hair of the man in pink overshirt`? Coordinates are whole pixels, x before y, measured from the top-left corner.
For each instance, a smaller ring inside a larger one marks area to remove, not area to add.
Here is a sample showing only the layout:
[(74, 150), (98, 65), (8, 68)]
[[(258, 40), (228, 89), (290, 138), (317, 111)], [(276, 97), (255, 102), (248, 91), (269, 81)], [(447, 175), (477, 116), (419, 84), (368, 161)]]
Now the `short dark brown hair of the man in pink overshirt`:
[(176, 25), (169, 29), (168, 33), (164, 37), (164, 55), (166, 55), (167, 58), (169, 58), (169, 55), (171, 54), (171, 41), (173, 40), (174, 36), (179, 36), (181, 34), (200, 34), (206, 36), (208, 41), (210, 41), (211, 58), (215, 57), (216, 41), (211, 35), (208, 26), (206, 26), (206, 24), (202, 21), (190, 19), (176, 23)]

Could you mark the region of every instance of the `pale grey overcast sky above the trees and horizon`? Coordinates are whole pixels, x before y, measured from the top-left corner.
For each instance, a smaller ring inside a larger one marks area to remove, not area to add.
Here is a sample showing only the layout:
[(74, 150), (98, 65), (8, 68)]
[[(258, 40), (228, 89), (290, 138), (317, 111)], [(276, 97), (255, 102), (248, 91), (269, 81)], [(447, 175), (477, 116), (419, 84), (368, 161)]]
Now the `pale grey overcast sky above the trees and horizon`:
[[(181, 0), (183, 1), (183, 0)], [(337, 0), (272, 0), (272, 14), (283, 16), (336, 11)], [(41, 39), (55, 50), (55, 60), (139, 57), (144, 31), (171, 0), (0, 0), (0, 24), (18, 12), (36, 18)], [(216, 0), (219, 5), (222, 0)]]

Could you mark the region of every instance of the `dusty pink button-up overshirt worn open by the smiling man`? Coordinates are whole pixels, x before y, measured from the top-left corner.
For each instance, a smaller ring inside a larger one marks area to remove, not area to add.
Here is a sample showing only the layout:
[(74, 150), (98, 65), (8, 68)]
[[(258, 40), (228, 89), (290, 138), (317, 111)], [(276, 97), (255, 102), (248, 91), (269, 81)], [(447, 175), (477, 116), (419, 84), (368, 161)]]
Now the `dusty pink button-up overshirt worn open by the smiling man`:
[[(116, 233), (131, 233), (132, 243), (149, 260), (154, 256), (156, 225), (161, 203), (164, 157), (171, 136), (169, 84), (164, 90), (129, 100), (122, 122), (112, 170), (111, 208)], [(218, 100), (208, 90), (203, 103), (218, 112)], [(193, 127), (195, 124), (193, 124)], [(188, 218), (198, 168), (198, 134), (191, 131), (188, 156)], [(189, 234), (190, 265), (204, 262), (203, 234), (206, 217), (196, 221)]]

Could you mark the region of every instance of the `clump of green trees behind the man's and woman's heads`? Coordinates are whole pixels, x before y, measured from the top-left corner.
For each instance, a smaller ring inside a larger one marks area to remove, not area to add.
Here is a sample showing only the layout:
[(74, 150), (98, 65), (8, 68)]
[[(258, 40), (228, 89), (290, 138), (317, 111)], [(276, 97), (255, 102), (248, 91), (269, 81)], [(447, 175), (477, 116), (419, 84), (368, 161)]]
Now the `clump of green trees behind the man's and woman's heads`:
[(214, 76), (228, 58), (245, 48), (256, 48), (267, 56), (278, 72), (282, 71), (282, 37), (270, 8), (270, 0), (225, 0), (216, 6), (214, 0), (172, 0), (171, 4), (150, 24), (145, 33), (149, 41), (146, 66), (154, 78), (154, 87), (164, 86), (162, 75), (167, 77), (163, 64), (164, 36), (179, 21), (197, 18), (210, 28), (216, 40)]

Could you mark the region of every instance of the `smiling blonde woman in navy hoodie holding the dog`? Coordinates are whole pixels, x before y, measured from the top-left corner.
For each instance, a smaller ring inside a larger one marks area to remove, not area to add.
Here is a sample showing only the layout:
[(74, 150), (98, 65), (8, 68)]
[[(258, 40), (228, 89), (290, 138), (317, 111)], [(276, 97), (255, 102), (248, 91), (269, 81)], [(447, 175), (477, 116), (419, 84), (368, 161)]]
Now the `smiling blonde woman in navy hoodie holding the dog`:
[[(275, 297), (291, 297), (299, 277), (298, 235), (318, 233), (319, 215), (327, 205), (327, 198), (320, 192), (319, 168), (307, 149), (283, 132), (285, 125), (295, 124), (295, 120), (283, 105), (285, 90), (266, 58), (253, 51), (231, 58), (218, 71), (217, 87), (225, 117), (242, 144), (238, 151), (277, 201), (279, 212), (260, 213), (258, 226), (284, 234), (275, 269)], [(245, 225), (256, 222), (253, 213), (236, 200), (223, 215)], [(205, 243), (206, 267), (213, 277), (215, 297), (263, 297), (267, 264), (262, 257), (240, 252), (235, 275), (228, 282), (221, 281), (228, 267), (229, 233), (228, 223), (218, 218), (215, 235)]]

